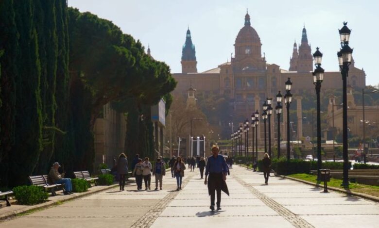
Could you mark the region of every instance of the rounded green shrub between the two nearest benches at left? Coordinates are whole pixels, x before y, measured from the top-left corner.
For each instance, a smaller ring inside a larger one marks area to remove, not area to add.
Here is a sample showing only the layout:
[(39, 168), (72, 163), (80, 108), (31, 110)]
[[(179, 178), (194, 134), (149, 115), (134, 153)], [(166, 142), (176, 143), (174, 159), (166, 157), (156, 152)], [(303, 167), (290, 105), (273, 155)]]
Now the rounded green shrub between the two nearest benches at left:
[(49, 194), (44, 188), (35, 185), (24, 185), (13, 188), (17, 202), (21, 205), (34, 205), (46, 202)]

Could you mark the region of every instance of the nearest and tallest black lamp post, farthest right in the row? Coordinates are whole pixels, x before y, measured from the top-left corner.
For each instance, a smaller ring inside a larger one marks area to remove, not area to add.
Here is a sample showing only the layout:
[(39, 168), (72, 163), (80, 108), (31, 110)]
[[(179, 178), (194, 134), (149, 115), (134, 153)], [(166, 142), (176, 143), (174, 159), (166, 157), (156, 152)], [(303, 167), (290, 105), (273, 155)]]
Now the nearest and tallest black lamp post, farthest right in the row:
[(342, 106), (342, 141), (343, 141), (343, 157), (344, 157), (344, 171), (343, 171), (343, 181), (342, 186), (347, 187), (349, 186), (349, 158), (347, 154), (347, 77), (348, 77), (348, 71), (349, 71), (349, 65), (351, 64), (351, 55), (353, 53), (353, 49), (349, 47), (349, 38), (351, 30), (347, 28), (347, 22), (344, 22), (344, 26), (339, 30), (340, 33), (340, 39), (341, 39), (341, 49), (339, 52), (337, 52), (338, 56), (338, 63), (340, 65), (341, 74), (342, 74), (342, 90), (343, 90), (343, 103)]

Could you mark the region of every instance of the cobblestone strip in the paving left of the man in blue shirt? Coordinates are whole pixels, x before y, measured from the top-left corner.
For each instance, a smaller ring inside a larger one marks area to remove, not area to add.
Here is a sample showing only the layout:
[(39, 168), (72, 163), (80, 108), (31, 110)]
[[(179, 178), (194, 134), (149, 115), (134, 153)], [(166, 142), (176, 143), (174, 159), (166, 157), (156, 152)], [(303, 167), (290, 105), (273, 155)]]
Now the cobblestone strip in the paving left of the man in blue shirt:
[[(189, 180), (194, 176), (194, 173), (188, 174), (188, 177), (183, 181), (182, 187), (186, 187)], [(139, 219), (130, 228), (148, 228), (153, 225), (155, 219), (163, 212), (166, 206), (171, 202), (172, 199), (179, 194), (179, 191), (173, 191), (167, 194), (163, 199), (159, 200), (152, 209), (150, 209), (146, 214), (139, 217)]]

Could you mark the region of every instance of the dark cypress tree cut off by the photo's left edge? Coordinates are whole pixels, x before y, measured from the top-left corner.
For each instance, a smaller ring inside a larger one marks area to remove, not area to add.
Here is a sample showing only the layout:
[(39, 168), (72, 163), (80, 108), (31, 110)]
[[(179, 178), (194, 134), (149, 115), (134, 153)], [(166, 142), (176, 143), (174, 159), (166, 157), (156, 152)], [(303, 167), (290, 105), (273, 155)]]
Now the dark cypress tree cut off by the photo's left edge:
[(0, 186), (8, 185), (9, 152), (15, 145), (18, 32), (13, 0), (0, 1)]

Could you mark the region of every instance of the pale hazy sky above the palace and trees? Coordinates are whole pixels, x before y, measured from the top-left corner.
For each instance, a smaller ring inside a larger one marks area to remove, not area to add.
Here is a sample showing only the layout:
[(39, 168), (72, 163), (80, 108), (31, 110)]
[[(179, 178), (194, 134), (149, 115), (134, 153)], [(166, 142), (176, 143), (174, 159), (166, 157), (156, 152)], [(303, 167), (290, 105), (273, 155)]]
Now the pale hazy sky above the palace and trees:
[[(236, 36), (248, 9), (266, 61), (288, 70), (293, 42), (307, 29), (312, 52), (320, 47), (322, 67), (338, 71), (338, 29), (347, 21), (355, 66), (366, 72), (366, 84), (378, 85), (378, 0), (68, 0), (69, 6), (111, 20), (131, 34), (152, 56), (181, 72), (181, 51), (189, 27), (196, 48), (198, 72), (230, 61)], [(341, 81), (342, 83), (342, 81)]]

